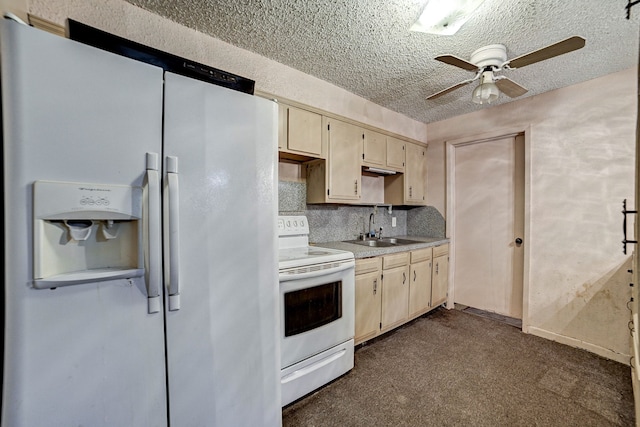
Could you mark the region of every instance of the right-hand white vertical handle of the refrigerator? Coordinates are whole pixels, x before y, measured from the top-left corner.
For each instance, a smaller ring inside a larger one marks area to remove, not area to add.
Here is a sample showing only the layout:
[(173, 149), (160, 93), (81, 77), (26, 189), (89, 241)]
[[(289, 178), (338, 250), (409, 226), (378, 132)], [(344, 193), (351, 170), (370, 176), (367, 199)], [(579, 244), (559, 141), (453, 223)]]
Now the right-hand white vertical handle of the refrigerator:
[(180, 310), (180, 210), (178, 158), (167, 156), (169, 186), (169, 311)]

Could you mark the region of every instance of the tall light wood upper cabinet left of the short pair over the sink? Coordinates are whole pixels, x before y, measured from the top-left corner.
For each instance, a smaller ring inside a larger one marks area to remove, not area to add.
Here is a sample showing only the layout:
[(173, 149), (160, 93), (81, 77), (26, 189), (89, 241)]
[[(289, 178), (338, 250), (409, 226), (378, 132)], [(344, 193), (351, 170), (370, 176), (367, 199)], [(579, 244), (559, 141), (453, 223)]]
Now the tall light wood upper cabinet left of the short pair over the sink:
[(327, 159), (306, 163), (307, 203), (358, 203), (362, 193), (362, 129), (323, 118)]

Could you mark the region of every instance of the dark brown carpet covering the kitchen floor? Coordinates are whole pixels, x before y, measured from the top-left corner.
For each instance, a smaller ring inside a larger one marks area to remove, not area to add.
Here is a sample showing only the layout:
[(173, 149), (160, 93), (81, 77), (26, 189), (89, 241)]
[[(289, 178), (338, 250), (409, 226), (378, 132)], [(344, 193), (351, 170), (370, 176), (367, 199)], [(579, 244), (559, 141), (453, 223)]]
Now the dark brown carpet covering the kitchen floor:
[(632, 426), (630, 367), (439, 308), (356, 350), (284, 426)]

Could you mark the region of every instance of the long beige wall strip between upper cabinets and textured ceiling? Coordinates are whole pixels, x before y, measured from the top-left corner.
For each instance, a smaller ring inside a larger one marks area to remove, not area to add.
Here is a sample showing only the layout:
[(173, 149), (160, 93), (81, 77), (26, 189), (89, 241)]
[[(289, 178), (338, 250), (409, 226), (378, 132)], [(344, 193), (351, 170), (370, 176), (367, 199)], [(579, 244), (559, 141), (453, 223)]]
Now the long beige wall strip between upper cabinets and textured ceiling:
[[(27, 0), (0, 0), (22, 1)], [(121, 0), (29, 0), (29, 12), (60, 25), (73, 18), (125, 38), (256, 81), (275, 94), (426, 142), (426, 125), (308, 74), (236, 48)]]

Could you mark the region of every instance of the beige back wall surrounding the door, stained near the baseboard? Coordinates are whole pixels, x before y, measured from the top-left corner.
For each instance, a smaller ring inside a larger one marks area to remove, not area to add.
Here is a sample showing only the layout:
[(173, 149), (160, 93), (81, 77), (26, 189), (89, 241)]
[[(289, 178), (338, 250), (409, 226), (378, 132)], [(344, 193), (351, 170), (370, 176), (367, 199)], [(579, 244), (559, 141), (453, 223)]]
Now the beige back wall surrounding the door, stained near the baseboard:
[(427, 128), (428, 202), (443, 214), (444, 141), (528, 131), (525, 323), (625, 363), (631, 277), (620, 211), (624, 198), (634, 206), (636, 79), (630, 69)]

